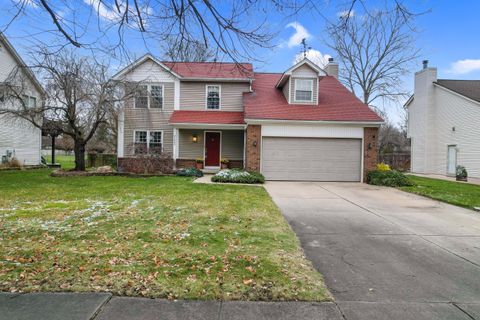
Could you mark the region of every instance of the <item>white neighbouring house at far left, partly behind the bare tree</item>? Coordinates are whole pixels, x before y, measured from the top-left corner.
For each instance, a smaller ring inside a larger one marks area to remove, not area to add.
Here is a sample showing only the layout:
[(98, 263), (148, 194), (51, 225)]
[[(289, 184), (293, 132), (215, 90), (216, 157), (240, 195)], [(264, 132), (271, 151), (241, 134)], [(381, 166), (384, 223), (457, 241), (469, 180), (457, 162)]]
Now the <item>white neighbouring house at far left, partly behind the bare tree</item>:
[[(19, 107), (19, 101), (7, 98), (12, 74), (21, 72), (22, 96), (30, 106), (43, 103), (44, 91), (22, 58), (7, 38), (0, 33), (0, 109)], [(26, 120), (0, 115), (0, 163), (15, 157), (23, 165), (36, 165), (41, 161), (42, 132)]]

